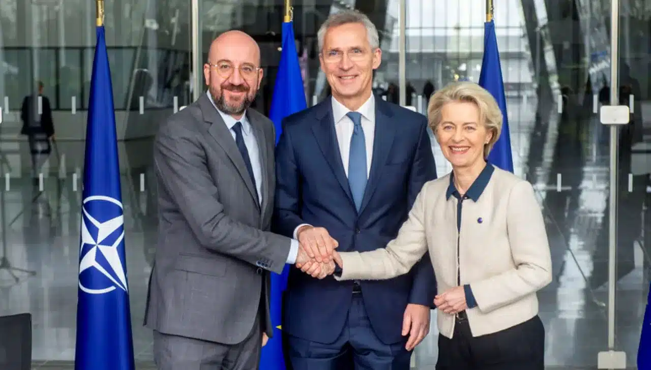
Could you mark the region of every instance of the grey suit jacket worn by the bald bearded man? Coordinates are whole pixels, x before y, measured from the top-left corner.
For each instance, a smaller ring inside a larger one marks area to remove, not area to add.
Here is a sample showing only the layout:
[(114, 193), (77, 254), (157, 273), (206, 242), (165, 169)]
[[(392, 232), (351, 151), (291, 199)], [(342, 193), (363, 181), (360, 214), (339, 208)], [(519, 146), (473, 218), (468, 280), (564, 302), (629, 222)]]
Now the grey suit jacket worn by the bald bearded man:
[(245, 339), (262, 312), (262, 328), (272, 332), (269, 271), (283, 271), (291, 241), (268, 231), (276, 182), (273, 123), (253, 109), (247, 118), (260, 148), (261, 205), (235, 140), (205, 94), (159, 129), (148, 328), (230, 345)]

